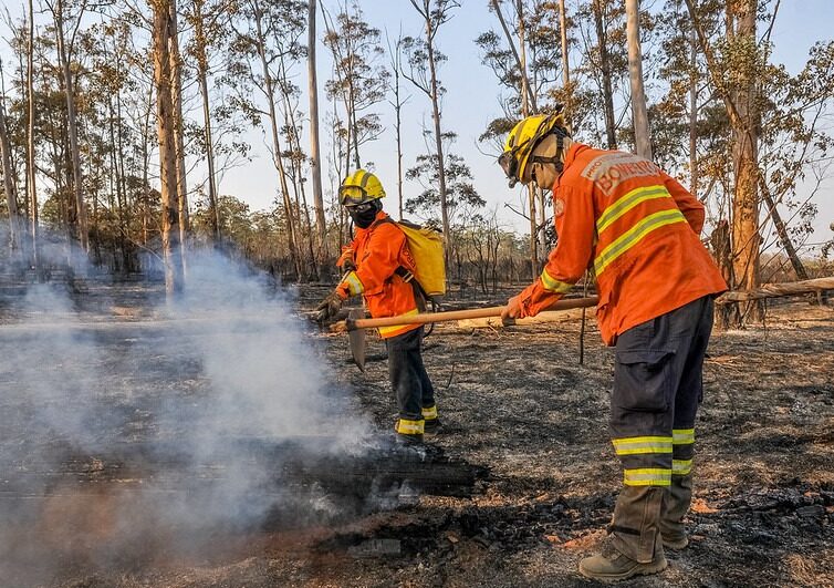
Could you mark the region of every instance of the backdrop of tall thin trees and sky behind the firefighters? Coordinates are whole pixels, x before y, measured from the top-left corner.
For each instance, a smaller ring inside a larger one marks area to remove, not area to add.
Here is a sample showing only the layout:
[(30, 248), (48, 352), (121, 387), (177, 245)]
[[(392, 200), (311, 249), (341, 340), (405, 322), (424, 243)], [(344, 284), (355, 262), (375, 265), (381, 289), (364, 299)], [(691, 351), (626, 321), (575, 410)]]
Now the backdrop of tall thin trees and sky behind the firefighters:
[(206, 244), (333, 279), (337, 186), (362, 166), (392, 216), (445, 233), (454, 285), (496, 291), (555, 240), (549, 197), (496, 157), (562, 104), (578, 141), (654, 158), (707, 205), (733, 288), (828, 275), (832, 25), (824, 0), (12, 3), (0, 259), (176, 291)]

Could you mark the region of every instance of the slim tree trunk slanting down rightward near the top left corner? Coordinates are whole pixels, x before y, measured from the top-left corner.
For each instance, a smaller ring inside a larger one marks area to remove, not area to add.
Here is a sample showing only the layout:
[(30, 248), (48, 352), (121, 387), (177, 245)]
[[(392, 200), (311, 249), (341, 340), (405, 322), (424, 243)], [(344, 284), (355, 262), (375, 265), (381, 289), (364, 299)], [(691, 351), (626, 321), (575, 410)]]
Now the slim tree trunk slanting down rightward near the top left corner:
[(70, 157), (72, 162), (72, 184), (75, 199), (75, 219), (77, 223), (77, 238), (81, 248), (86, 252), (90, 250), (90, 229), (87, 227), (86, 204), (84, 203), (84, 184), (81, 173), (81, 153), (79, 151), (79, 125), (75, 113), (75, 89), (73, 85), (72, 69), (70, 68), (70, 55), (66, 51), (66, 40), (64, 38), (64, 13), (63, 2), (58, 0), (55, 4), (55, 37), (58, 41), (58, 53), (61, 60), (61, 72), (64, 79), (64, 92), (66, 95), (66, 131), (70, 138)]

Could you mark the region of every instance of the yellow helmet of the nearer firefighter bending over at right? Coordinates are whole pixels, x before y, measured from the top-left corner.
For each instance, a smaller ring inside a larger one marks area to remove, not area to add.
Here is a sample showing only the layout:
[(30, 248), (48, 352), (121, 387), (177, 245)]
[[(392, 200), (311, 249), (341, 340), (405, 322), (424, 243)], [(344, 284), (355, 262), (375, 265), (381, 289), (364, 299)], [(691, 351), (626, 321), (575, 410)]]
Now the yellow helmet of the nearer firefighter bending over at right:
[[(504, 152), (498, 158), (498, 163), (510, 179), (510, 187), (524, 177), (530, 155), (541, 141), (555, 134), (559, 138), (559, 148), (562, 148), (562, 140), (570, 136), (561, 109), (555, 114), (533, 114), (519, 122), (510, 134), (507, 135)], [(561, 154), (560, 154), (561, 155)], [(555, 158), (542, 158), (543, 163), (556, 163)]]

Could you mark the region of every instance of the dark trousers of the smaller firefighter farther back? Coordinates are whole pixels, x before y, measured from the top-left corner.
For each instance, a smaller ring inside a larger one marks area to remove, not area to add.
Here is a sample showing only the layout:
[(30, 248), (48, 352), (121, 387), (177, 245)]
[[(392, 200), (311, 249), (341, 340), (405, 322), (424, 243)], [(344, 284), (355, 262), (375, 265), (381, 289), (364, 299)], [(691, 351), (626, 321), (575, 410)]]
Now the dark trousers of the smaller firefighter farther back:
[(423, 364), (423, 332), (420, 327), (385, 340), (399, 416), (409, 421), (423, 420), (423, 409), (435, 405), (435, 389)]

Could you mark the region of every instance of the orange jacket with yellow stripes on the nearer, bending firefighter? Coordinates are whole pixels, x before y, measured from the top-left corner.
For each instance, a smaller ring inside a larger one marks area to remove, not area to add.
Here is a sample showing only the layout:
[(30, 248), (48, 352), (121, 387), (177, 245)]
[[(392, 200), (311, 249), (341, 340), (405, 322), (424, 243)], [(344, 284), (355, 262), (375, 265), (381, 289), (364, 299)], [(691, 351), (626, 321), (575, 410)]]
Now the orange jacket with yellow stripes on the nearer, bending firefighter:
[(591, 266), (603, 340), (727, 283), (699, 235), (703, 205), (656, 164), (574, 143), (553, 186), (559, 243), (519, 297), (521, 317), (548, 309)]

